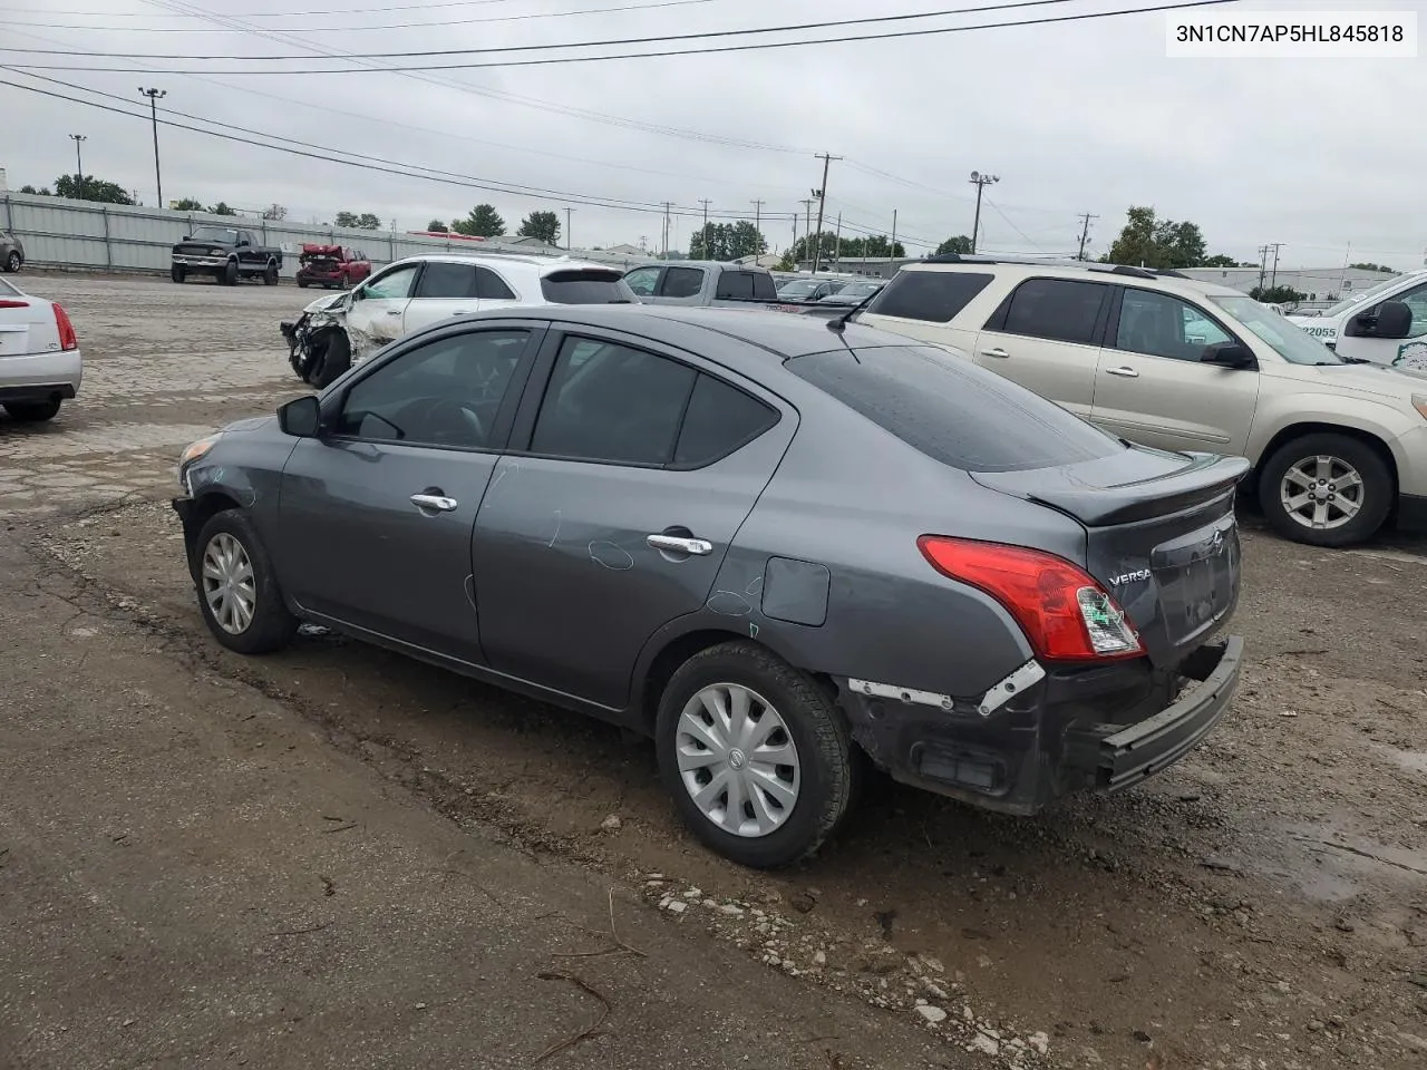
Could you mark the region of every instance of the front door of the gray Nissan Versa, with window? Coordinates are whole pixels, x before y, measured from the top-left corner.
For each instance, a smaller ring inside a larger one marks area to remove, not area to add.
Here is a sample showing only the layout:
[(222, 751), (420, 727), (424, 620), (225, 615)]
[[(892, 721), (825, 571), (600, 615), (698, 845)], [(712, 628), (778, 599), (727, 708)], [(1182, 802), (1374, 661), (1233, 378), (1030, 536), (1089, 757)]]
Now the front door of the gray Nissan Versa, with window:
[[(283, 586), (307, 609), (479, 662), (471, 531), (532, 331), (441, 334), (382, 360), (283, 472)], [(325, 407), (324, 407), (325, 408)]]

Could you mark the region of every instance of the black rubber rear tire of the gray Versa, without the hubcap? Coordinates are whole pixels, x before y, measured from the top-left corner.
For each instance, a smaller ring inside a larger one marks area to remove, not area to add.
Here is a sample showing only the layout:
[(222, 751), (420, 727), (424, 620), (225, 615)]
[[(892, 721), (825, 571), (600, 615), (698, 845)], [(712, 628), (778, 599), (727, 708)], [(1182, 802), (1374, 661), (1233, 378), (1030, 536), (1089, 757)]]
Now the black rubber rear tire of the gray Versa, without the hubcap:
[[(715, 825), (694, 802), (679, 772), (684, 708), (699, 691), (718, 683), (739, 685), (766, 699), (796, 749), (796, 802), (765, 836), (739, 836)], [(748, 641), (712, 646), (679, 666), (659, 698), (655, 745), (665, 788), (694, 835), (723, 857), (755, 869), (788, 866), (815, 853), (846, 816), (858, 788), (859, 756), (832, 696), (805, 672)]]

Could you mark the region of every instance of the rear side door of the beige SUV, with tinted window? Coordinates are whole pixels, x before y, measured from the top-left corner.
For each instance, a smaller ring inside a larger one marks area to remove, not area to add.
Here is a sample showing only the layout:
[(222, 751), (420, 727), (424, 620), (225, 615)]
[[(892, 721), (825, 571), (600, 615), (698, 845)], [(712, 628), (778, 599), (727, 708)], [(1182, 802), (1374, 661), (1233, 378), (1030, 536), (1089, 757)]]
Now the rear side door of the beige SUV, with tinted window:
[(973, 360), (1089, 418), (1110, 290), (1077, 278), (1022, 281), (976, 335)]

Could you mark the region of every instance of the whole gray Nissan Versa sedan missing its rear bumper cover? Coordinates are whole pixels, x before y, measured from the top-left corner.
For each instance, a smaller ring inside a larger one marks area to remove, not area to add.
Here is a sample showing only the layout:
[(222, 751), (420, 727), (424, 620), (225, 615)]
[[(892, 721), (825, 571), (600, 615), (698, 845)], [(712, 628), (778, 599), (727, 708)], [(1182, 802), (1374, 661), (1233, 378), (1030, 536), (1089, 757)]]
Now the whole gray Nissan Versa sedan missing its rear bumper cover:
[(776, 866), (865, 760), (1027, 815), (1197, 745), (1246, 469), (846, 317), (571, 305), (194, 442), (174, 506), (224, 646), (317, 622), (645, 732), (699, 837)]

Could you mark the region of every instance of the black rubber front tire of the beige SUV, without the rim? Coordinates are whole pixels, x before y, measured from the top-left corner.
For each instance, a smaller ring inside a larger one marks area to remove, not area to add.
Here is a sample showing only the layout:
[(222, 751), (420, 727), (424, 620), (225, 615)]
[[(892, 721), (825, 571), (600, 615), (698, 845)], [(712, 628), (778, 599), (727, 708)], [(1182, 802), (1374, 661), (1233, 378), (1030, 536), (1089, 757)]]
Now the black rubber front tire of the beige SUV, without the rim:
[[(1359, 511), (1340, 526), (1310, 528), (1296, 519), (1283, 502), (1280, 489), (1289, 469), (1314, 457), (1336, 458), (1356, 468), (1361, 477)], [(1371, 538), (1391, 512), (1396, 492), (1393, 472), (1373, 447), (1351, 435), (1326, 431), (1303, 435), (1279, 447), (1259, 472), (1259, 504), (1269, 524), (1283, 538), (1310, 546), (1347, 546)]]

